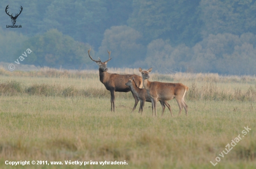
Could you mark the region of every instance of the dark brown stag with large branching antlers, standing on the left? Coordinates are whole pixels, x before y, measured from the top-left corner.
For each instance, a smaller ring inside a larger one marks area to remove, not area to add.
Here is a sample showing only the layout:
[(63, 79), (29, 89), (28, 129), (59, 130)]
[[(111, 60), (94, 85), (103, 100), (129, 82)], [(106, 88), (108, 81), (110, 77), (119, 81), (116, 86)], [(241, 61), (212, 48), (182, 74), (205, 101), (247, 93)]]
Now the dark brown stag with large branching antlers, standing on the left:
[[(100, 72), (100, 81), (101, 83), (104, 84), (104, 86), (106, 87), (107, 90), (110, 91), (111, 94), (111, 112), (114, 111), (115, 112), (115, 92), (129, 92), (131, 91), (130, 88), (128, 86), (125, 85), (125, 82), (128, 81), (128, 77), (127, 76), (134, 76), (135, 77), (135, 82), (136, 85), (139, 86), (140, 88), (142, 88), (143, 84), (142, 84), (142, 78), (139, 75), (119, 75), (119, 74), (111, 74), (108, 73), (108, 68), (107, 68), (107, 63), (108, 61), (110, 61), (112, 59), (112, 57), (110, 58), (110, 53), (108, 51), (108, 60), (105, 62), (101, 62), (101, 59), (99, 58), (98, 61), (95, 61), (91, 56), (90, 56), (90, 50), (88, 50), (88, 55), (89, 57), (96, 62), (99, 65), (99, 72)], [(135, 105), (133, 107), (133, 110), (135, 110), (139, 99), (137, 98), (137, 96), (132, 92), (133, 97), (135, 99)]]

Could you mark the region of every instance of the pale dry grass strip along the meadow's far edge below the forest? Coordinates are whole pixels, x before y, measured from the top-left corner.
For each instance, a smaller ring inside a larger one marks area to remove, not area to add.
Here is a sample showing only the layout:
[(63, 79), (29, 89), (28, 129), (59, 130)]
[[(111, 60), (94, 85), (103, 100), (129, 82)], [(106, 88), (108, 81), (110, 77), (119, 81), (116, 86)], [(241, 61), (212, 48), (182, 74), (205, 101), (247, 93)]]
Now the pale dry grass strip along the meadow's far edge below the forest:
[[(131, 68), (109, 68), (109, 73), (118, 74), (136, 74), (141, 75), (139, 69)], [(0, 67), (0, 75), (6, 76), (23, 76), (23, 77), (52, 77), (52, 78), (98, 78), (98, 70), (65, 70), (41, 68), (38, 71), (8, 71)], [(151, 73), (152, 79), (157, 81), (204, 81), (204, 82), (241, 82), (255, 83), (256, 76), (250, 75), (218, 75), (217, 73), (182, 73), (175, 74), (158, 74)]]

